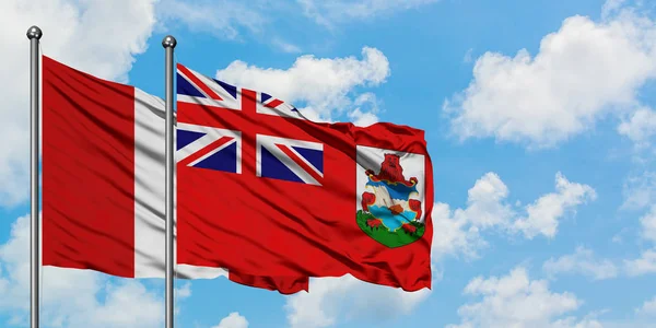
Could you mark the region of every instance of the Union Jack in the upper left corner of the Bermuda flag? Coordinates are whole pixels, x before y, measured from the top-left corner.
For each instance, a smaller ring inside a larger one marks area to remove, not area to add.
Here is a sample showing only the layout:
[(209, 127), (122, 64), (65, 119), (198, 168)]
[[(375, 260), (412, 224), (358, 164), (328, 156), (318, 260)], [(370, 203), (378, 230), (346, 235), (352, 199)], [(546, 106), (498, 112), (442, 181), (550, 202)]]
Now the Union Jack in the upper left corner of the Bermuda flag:
[[(222, 115), (220, 110), (238, 110), (256, 121), (267, 116), (305, 119), (291, 104), (263, 92), (237, 87), (177, 65), (178, 103), (201, 106)], [(255, 104), (254, 104), (255, 103)], [(251, 108), (254, 110), (251, 110)], [(223, 113), (224, 115), (235, 114)], [(242, 140), (245, 131), (177, 124), (176, 161), (178, 165), (225, 173), (243, 174)], [(292, 183), (321, 186), (324, 178), (324, 144), (318, 142), (255, 133), (255, 174)], [(251, 165), (253, 164), (248, 164)]]

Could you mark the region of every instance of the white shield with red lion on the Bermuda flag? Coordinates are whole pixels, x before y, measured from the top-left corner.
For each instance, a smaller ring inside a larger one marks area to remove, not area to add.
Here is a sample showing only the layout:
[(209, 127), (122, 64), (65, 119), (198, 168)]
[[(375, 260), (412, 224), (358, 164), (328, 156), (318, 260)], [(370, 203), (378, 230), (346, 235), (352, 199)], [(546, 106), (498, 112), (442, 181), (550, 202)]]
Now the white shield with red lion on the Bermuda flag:
[(387, 247), (419, 241), (425, 231), (424, 155), (358, 147), (356, 222)]

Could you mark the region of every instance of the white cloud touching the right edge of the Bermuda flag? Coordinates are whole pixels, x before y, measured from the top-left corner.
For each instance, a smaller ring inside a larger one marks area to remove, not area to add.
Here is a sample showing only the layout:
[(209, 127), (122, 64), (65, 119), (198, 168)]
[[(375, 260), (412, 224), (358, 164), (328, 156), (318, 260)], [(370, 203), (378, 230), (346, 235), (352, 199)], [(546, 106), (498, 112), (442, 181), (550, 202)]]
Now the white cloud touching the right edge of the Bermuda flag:
[(590, 186), (571, 183), (560, 172), (555, 174), (555, 189), (516, 209), (520, 204), (513, 207), (507, 200), (508, 188), (499, 175), (487, 173), (469, 189), (467, 208), (450, 211), (445, 203), (433, 208), (433, 257), (462, 254), (476, 258), (488, 245), (480, 236), (485, 230), (522, 233), (526, 238), (554, 237), (567, 210), (575, 212), (577, 206), (596, 197)]

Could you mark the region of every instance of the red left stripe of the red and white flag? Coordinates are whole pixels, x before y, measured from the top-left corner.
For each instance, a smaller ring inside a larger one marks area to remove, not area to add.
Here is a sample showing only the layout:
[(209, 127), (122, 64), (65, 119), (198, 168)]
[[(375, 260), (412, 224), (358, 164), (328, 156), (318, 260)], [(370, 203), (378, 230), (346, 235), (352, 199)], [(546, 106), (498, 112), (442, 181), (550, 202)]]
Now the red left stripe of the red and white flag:
[(133, 277), (134, 89), (43, 58), (43, 263)]

